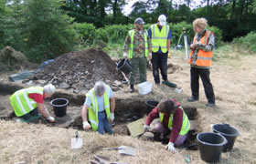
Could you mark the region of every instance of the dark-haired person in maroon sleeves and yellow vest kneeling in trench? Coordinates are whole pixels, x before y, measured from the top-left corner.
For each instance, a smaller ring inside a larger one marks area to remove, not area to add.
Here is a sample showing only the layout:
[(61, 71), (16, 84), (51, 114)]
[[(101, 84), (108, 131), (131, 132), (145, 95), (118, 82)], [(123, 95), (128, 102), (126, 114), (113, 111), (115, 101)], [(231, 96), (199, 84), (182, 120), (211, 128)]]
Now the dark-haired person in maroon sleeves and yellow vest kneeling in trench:
[[(151, 130), (150, 124), (155, 118), (160, 118), (160, 120), (155, 123), (154, 129)], [(172, 153), (176, 152), (175, 146), (181, 146), (184, 143), (189, 128), (190, 122), (187, 115), (175, 98), (162, 100), (149, 113), (144, 125), (144, 130), (155, 133), (155, 138), (160, 137), (161, 134), (167, 135), (171, 130), (166, 149)]]

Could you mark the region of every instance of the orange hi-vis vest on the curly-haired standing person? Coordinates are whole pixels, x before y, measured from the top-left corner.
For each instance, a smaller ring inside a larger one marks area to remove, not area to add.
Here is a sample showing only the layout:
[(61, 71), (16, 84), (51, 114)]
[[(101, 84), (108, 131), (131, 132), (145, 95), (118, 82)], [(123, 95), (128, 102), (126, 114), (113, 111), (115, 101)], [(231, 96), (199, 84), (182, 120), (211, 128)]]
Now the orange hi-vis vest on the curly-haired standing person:
[[(206, 31), (205, 36), (203, 36), (200, 39), (200, 44), (203, 45), (207, 45), (208, 44), (208, 36), (211, 34), (210, 31)], [(194, 37), (194, 41), (193, 43), (196, 43), (197, 37)], [(191, 51), (190, 53), (190, 57), (188, 59), (188, 63), (192, 64), (192, 56), (194, 54), (194, 51)], [(203, 51), (201, 49), (198, 50), (198, 54), (197, 54), (197, 61), (196, 61), (196, 65), (199, 67), (210, 67), (211, 66), (211, 59), (212, 59), (212, 55), (213, 55), (213, 51), (207, 52), (207, 51)]]

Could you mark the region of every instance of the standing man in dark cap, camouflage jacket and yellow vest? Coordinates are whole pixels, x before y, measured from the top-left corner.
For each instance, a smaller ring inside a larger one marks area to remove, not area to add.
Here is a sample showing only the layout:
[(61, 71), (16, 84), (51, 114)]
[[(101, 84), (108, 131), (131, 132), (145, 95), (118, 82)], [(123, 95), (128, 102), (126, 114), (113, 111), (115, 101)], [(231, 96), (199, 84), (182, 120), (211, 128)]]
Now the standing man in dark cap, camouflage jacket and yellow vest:
[(147, 31), (144, 30), (144, 20), (139, 17), (135, 19), (134, 28), (126, 36), (123, 47), (123, 57), (130, 58), (133, 67), (130, 76), (130, 93), (134, 92), (135, 77), (138, 69), (140, 71), (140, 82), (146, 81), (147, 58), (150, 60), (151, 56), (150, 38)]

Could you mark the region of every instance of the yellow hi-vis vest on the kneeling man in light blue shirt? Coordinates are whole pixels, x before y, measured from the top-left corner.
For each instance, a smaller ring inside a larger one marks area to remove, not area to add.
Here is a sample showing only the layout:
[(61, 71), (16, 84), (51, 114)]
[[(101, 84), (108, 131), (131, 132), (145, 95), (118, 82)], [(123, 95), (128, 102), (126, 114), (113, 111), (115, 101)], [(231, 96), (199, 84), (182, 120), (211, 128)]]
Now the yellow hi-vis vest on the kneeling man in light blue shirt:
[[(103, 98), (104, 98), (104, 107), (105, 107), (105, 111), (107, 114), (107, 118), (110, 118), (110, 114), (111, 114), (111, 107), (110, 107), (110, 90), (111, 87), (109, 87), (108, 85), (105, 86), (105, 93), (103, 94)], [(88, 108), (89, 110), (89, 120), (91, 122), (91, 128), (93, 131), (97, 131), (98, 129), (98, 124), (99, 124), (99, 120), (98, 120), (98, 103), (97, 103), (97, 98), (95, 95), (95, 90), (94, 87), (91, 88), (91, 90), (86, 94), (86, 97), (90, 97), (91, 99), (91, 106)]]

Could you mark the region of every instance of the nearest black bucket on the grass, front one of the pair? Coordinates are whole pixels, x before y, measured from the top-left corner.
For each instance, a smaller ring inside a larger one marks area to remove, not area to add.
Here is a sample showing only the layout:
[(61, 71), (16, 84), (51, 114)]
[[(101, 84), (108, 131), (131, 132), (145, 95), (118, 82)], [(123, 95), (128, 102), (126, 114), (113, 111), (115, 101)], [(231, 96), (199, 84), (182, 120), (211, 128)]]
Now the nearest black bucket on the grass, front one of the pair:
[(219, 133), (198, 133), (198, 146), (200, 157), (208, 163), (218, 162), (227, 139)]

